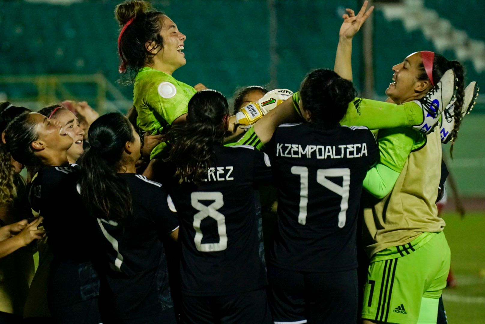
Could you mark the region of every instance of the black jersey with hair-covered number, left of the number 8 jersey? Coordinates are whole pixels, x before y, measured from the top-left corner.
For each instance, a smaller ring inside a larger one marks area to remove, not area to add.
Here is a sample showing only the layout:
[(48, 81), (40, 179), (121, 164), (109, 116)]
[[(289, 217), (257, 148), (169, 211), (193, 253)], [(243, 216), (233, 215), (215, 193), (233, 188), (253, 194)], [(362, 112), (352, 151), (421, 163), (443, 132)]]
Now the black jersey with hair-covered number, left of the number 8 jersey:
[(133, 213), (123, 224), (97, 218), (105, 255), (101, 311), (112, 312), (113, 319), (136, 319), (173, 307), (162, 239), (178, 228), (178, 220), (160, 183), (133, 173), (119, 176), (128, 183)]

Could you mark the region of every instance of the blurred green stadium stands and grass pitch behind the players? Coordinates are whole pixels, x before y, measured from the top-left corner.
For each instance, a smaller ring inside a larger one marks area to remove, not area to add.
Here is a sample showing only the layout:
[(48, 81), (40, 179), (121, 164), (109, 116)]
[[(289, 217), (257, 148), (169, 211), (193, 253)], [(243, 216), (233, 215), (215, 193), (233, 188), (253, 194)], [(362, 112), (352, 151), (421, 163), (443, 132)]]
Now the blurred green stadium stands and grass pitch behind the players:
[[(360, 0), (153, 0), (187, 35), (174, 77), (232, 97), (258, 84), (296, 91), (312, 68), (332, 68), (344, 8)], [(459, 4), (457, 4), (459, 2)], [(99, 112), (131, 107), (118, 82), (113, 0), (0, 1), (0, 100), (36, 109), (87, 100)], [(391, 67), (418, 50), (458, 58), (485, 91), (484, 0), (375, 1), (354, 39), (360, 96), (383, 99)], [(478, 13), (475, 16), (473, 13)], [(449, 146), (444, 147), (448, 152)], [(444, 293), (449, 323), (485, 323), (485, 95), (462, 124), (449, 168), (468, 214), (448, 205), (445, 230), (458, 287)], [(436, 167), (439, 167), (438, 165)]]

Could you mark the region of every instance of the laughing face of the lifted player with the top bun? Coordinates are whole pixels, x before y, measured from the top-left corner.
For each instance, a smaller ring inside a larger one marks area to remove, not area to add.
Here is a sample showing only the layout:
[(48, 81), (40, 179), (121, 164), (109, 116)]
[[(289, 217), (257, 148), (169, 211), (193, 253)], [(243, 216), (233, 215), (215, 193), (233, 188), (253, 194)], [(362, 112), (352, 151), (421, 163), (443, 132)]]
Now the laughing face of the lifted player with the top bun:
[[(160, 35), (163, 38), (163, 48), (157, 53), (167, 72), (171, 74), (180, 66), (185, 65), (185, 54), (183, 53), (185, 35), (181, 33), (177, 25), (167, 16), (162, 16), (162, 30)], [(164, 71), (165, 72), (165, 71)]]

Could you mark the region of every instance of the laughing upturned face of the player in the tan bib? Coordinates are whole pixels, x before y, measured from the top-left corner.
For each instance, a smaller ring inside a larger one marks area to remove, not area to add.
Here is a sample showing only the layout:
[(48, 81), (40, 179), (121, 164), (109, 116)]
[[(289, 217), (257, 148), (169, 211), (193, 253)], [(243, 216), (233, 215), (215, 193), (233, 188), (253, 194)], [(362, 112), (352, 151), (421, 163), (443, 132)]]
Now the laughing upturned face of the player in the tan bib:
[(407, 56), (402, 63), (392, 67), (393, 82), (389, 84), (386, 95), (395, 103), (401, 104), (418, 99), (431, 87), (430, 81), (418, 80), (421, 64), (421, 54), (416, 52)]

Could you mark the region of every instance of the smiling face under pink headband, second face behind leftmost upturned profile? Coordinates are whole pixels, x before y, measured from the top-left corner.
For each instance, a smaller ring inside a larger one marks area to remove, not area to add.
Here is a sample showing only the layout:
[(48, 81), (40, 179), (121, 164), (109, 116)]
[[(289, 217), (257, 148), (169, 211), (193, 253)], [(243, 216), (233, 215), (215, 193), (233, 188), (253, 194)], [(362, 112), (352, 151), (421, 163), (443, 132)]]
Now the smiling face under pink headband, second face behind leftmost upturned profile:
[(71, 113), (67, 109), (60, 109), (54, 116), (59, 120), (63, 130), (73, 139), (71, 147), (67, 150), (67, 158), (69, 159), (69, 163), (74, 163), (79, 159), (82, 152), (84, 152), (82, 148), (84, 130), (81, 129), (74, 113)]

